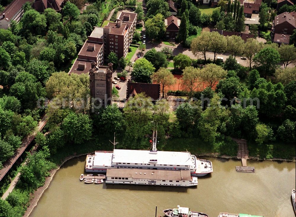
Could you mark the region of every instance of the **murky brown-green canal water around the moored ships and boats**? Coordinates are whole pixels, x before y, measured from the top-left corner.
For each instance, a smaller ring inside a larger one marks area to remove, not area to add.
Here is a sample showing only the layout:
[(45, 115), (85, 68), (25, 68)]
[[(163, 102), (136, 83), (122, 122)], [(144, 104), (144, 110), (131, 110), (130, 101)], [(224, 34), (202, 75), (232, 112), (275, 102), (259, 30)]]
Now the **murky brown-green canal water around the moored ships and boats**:
[(177, 205), (217, 217), (220, 212), (265, 217), (293, 217), (291, 192), (295, 162), (251, 161), (255, 173), (236, 172), (238, 160), (207, 158), (214, 172), (195, 187), (85, 184), (85, 157), (71, 159), (57, 171), (30, 217), (102, 216), (157, 217)]

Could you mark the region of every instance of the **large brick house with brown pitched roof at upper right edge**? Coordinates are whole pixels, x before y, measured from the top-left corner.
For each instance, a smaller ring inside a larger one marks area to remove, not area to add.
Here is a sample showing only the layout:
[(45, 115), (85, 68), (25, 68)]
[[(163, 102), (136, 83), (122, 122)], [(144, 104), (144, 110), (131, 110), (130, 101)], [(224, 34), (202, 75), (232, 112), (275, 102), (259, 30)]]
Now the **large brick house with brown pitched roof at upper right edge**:
[(272, 32), (275, 34), (292, 35), (296, 29), (295, 12), (284, 12), (274, 17)]

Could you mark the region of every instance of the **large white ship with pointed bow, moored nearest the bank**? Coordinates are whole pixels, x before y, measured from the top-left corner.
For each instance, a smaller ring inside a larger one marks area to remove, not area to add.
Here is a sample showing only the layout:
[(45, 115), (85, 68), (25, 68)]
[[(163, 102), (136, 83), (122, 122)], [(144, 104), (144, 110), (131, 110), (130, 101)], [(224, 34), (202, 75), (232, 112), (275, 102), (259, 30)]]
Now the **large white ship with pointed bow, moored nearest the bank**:
[(106, 173), (110, 168), (188, 170), (192, 176), (213, 172), (211, 161), (197, 159), (190, 152), (114, 149), (87, 155), (86, 172)]

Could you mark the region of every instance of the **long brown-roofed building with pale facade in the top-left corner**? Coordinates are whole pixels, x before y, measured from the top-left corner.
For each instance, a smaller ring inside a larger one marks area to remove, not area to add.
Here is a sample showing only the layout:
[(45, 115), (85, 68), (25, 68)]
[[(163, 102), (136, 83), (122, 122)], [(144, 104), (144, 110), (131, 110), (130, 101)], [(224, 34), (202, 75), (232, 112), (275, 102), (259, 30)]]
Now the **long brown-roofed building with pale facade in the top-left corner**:
[(8, 29), (11, 21), (20, 22), (24, 10), (22, 6), (27, 2), (33, 2), (33, 0), (14, 0), (12, 1), (0, 15), (0, 28)]

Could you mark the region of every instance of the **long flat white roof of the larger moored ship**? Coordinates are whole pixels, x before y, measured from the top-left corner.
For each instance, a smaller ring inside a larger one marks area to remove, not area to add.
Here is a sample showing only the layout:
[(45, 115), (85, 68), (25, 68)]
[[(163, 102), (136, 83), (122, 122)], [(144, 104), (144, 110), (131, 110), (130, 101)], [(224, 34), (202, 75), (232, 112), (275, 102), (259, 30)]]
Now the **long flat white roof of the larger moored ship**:
[[(153, 162), (151, 160), (157, 160)], [(192, 165), (189, 152), (114, 149), (113, 163)]]

